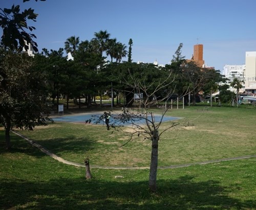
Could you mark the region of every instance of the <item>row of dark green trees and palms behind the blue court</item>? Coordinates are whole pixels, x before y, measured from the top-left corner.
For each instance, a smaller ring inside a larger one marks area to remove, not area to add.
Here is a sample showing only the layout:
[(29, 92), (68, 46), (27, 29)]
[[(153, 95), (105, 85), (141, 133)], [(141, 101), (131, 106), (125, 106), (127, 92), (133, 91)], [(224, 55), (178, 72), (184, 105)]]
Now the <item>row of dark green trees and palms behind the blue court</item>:
[[(99, 34), (101, 38), (99, 38)], [(97, 38), (96, 38), (97, 37)], [(111, 61), (106, 61), (106, 57), (102, 56), (105, 52), (108, 54), (113, 39), (103, 38), (109, 37), (106, 31), (95, 33), (95, 38), (88, 41), (79, 41), (79, 37), (72, 36), (65, 42), (65, 50), (60, 48), (58, 51), (43, 49), (41, 54), (36, 54), (34, 60), (38, 69), (42, 69), (48, 76), (46, 83), (52, 102), (57, 100), (60, 95), (64, 95), (67, 99), (69, 108), (69, 100), (78, 101), (80, 107), (80, 97), (86, 98), (86, 104), (91, 106), (95, 96), (102, 97), (102, 93), (113, 88), (118, 95), (122, 92), (124, 96), (125, 106), (133, 104), (134, 92), (131, 88), (124, 86), (123, 83), (129, 80), (129, 74), (132, 73), (148, 85), (155, 83), (159, 78), (166, 78), (166, 74), (173, 72), (175, 82), (172, 86), (166, 87), (168, 91), (172, 89), (177, 96), (185, 96), (185, 103), (189, 102), (189, 94), (193, 105), (196, 104), (196, 96), (199, 91), (214, 92), (217, 90), (217, 84), (223, 80), (219, 71), (214, 69), (206, 69), (199, 67), (194, 62), (186, 62), (184, 58), (175, 61), (172, 64), (156, 66), (153, 63), (135, 63), (130, 61), (120, 62), (120, 59), (126, 56), (124, 45), (120, 43), (120, 58), (118, 53), (111, 54)], [(111, 40), (111, 41), (110, 41)], [(115, 39), (116, 40), (116, 39)], [(130, 43), (131, 39), (130, 39)], [(115, 44), (114, 44), (115, 45)], [(182, 43), (180, 44), (182, 46)], [(181, 48), (178, 48), (181, 51)], [(120, 49), (117, 48), (118, 52)], [(72, 55), (71, 60), (67, 60), (64, 51)], [(122, 53), (121, 53), (122, 52)], [(131, 49), (129, 50), (131, 55)], [(180, 53), (180, 52), (177, 52)], [(177, 56), (178, 57), (178, 56)], [(116, 62), (113, 62), (116, 58)], [(146, 79), (145, 79), (146, 76)], [(164, 92), (156, 92), (155, 98), (161, 98)], [(120, 103), (117, 99), (117, 103)]]

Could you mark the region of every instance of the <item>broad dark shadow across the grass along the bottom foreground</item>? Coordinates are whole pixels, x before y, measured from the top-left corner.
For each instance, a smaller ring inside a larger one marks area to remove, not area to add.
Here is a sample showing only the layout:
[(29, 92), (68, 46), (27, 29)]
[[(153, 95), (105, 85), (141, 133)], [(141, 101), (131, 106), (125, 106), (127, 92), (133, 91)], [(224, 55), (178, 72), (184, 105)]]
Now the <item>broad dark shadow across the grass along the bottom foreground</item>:
[[(147, 181), (52, 179), (49, 182), (4, 181), (2, 209), (255, 209), (255, 201), (228, 196), (231, 186), (218, 181), (194, 182), (193, 176), (159, 180), (150, 194)], [(8, 198), (13, 198), (8, 200)]]

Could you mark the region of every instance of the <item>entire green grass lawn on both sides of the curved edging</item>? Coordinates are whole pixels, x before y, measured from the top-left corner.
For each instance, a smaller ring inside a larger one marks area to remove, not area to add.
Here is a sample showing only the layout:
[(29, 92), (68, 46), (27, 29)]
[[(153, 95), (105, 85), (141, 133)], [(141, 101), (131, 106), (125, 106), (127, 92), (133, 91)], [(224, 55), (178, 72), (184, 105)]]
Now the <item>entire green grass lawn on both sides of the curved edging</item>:
[[(161, 110), (155, 110), (160, 112)], [(159, 166), (255, 155), (255, 109), (197, 107), (170, 110), (194, 126), (160, 137)], [(169, 122), (163, 124), (162, 129)], [(70, 161), (91, 165), (148, 166), (151, 144), (127, 141), (104, 126), (54, 123), (22, 134)], [(4, 139), (4, 131), (0, 131)], [(11, 134), (13, 149), (0, 142), (0, 209), (256, 209), (256, 158), (159, 169), (158, 192), (148, 192), (148, 170), (91, 169), (67, 166)], [(115, 178), (116, 175), (123, 178)]]

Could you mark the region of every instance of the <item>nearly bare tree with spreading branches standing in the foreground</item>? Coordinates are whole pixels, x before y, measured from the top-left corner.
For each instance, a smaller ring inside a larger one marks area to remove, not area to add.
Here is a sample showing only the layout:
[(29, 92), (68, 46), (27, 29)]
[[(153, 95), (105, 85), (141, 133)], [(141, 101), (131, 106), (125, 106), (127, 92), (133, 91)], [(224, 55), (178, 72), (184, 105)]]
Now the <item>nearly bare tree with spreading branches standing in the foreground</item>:
[[(160, 115), (160, 120), (156, 120), (156, 114), (150, 111), (149, 107), (153, 104), (160, 103), (169, 99), (174, 92), (174, 88), (170, 88), (170, 85), (174, 82), (175, 77), (173, 77), (170, 72), (167, 77), (163, 79), (159, 78), (158, 82), (145, 83), (145, 79), (137, 78), (133, 76), (129, 71), (129, 77), (124, 79), (124, 83), (133, 90), (133, 94), (136, 94), (139, 101), (139, 109), (137, 111), (130, 109), (123, 109), (118, 116), (116, 116), (116, 121), (109, 124), (108, 129), (122, 130), (123, 123), (128, 123), (133, 128), (130, 133), (129, 140), (124, 144), (126, 145), (136, 137), (144, 137), (144, 139), (150, 139), (151, 144), (151, 164), (150, 164), (150, 176), (149, 176), (149, 188), (151, 192), (157, 190), (157, 167), (158, 167), (158, 144), (160, 136), (166, 130), (176, 127), (180, 123), (173, 121), (171, 125), (160, 131), (160, 127), (163, 122), (164, 115), (166, 114), (168, 107), (163, 110)], [(129, 80), (129, 81), (128, 81)], [(131, 82), (132, 81), (132, 82)], [(157, 93), (164, 90), (165, 96), (160, 100), (157, 99)], [(103, 119), (104, 116), (102, 115)], [(122, 145), (122, 146), (124, 146)]]

